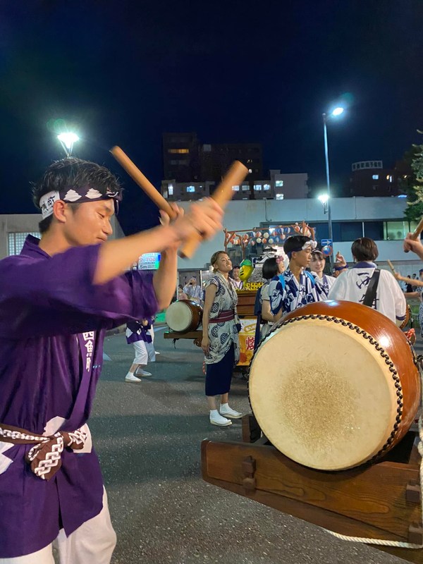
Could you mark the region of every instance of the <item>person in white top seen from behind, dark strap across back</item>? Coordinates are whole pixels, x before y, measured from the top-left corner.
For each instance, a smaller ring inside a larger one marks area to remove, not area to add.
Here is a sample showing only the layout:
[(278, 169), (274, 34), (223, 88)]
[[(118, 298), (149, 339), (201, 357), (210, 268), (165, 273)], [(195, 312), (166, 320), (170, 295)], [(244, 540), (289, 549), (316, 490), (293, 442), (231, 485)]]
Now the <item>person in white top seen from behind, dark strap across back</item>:
[[(367, 286), (372, 279), (379, 255), (374, 240), (367, 237), (356, 239), (351, 246), (355, 264), (336, 278), (329, 290), (329, 300), (348, 300), (362, 303), (366, 295)], [(393, 323), (400, 324), (405, 319), (406, 302), (398, 282), (391, 272), (381, 270), (376, 297), (372, 305), (374, 309), (386, 315)]]

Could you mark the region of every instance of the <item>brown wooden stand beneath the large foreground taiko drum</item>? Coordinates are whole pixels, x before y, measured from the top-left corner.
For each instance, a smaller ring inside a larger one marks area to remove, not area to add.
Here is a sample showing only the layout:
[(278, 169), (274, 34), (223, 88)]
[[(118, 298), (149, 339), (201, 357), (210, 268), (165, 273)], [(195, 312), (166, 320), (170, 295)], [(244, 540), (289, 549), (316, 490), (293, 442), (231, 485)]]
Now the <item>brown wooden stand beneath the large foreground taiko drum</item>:
[[(293, 462), (262, 435), (254, 415), (243, 417), (243, 442), (202, 441), (206, 482), (348, 537), (423, 544), (418, 437), (409, 431), (373, 465), (322, 472)], [(419, 548), (373, 544), (410, 562)]]

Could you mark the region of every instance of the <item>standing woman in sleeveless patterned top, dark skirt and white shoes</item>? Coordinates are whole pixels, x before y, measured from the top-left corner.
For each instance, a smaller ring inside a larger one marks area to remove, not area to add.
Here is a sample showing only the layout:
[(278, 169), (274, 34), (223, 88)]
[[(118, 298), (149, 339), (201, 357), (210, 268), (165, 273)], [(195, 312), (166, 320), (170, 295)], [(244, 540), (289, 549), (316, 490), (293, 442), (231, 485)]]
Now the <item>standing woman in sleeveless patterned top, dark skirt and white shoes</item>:
[[(231, 419), (243, 415), (231, 409), (228, 403), (233, 367), (240, 357), (240, 324), (236, 312), (238, 296), (228, 280), (232, 263), (226, 252), (215, 252), (210, 263), (214, 276), (209, 278), (205, 286), (201, 343), (206, 363), (206, 396), (210, 423), (227, 427), (232, 424)], [(216, 396), (221, 396), (219, 410)]]

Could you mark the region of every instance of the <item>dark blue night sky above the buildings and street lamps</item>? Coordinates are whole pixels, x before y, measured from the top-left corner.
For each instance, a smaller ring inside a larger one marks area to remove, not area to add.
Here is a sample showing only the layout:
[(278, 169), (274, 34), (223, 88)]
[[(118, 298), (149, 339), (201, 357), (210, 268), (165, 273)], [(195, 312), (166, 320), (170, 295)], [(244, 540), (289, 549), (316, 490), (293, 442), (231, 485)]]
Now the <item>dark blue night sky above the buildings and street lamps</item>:
[(0, 213), (33, 213), (29, 183), (64, 156), (55, 120), (83, 141), (73, 154), (125, 185), (127, 233), (157, 209), (108, 149), (120, 145), (159, 186), (161, 133), (260, 142), (264, 171), (324, 185), (321, 113), (333, 190), (354, 161), (393, 166), (423, 142), (422, 0), (0, 0)]

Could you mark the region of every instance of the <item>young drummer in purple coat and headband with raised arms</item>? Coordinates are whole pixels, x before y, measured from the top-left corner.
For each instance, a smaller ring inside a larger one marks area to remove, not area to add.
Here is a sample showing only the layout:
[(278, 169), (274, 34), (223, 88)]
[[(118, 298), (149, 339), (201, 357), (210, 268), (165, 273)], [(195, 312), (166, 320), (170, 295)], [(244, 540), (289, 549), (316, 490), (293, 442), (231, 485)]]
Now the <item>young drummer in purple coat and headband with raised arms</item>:
[[(211, 200), (176, 219), (107, 241), (121, 187), (103, 166), (63, 159), (34, 189), (41, 240), (0, 261), (0, 563), (108, 564), (116, 535), (87, 419), (106, 329), (172, 298), (176, 250), (221, 228)], [(154, 276), (128, 271), (145, 252)]]

